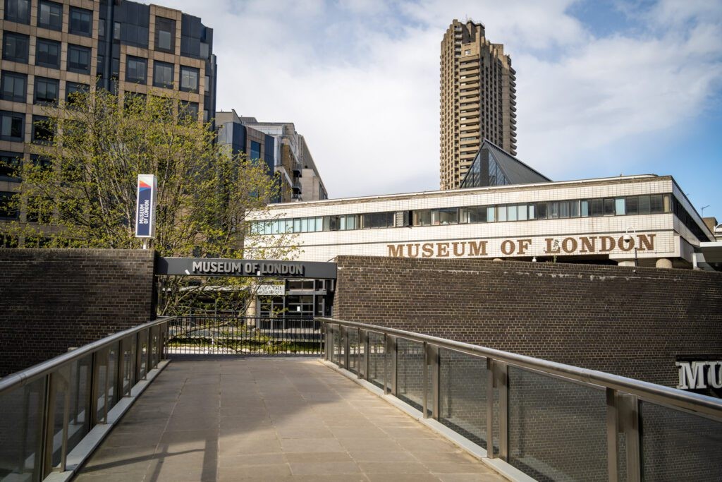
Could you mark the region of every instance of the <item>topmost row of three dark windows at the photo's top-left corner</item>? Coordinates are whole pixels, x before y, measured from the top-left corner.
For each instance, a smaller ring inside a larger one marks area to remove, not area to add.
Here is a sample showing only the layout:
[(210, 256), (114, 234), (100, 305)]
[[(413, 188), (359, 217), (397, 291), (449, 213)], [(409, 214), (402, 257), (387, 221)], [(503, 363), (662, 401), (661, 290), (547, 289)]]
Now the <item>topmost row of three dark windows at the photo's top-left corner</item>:
[[(92, 35), (92, 10), (70, 7), (68, 32), (90, 37)], [(30, 0), (5, 0), (5, 20), (30, 25)], [(54, 1), (38, 1), (38, 27), (63, 30), (63, 4)]]

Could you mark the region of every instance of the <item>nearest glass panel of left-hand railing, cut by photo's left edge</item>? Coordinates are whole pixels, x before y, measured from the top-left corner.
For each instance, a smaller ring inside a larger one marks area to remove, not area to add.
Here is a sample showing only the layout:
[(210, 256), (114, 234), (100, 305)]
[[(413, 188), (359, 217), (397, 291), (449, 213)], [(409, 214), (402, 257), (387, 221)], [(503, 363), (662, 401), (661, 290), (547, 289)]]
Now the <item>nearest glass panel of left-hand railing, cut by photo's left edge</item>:
[(0, 480), (40, 480), (45, 378), (0, 395)]

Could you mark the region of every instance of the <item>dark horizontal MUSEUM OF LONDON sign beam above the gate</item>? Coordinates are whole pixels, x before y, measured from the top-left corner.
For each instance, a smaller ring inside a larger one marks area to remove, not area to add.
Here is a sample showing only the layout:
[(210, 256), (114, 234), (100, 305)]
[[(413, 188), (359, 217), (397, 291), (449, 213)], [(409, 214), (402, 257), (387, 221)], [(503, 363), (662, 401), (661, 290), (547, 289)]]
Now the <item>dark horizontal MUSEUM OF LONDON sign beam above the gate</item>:
[(271, 259), (158, 258), (155, 274), (335, 279), (336, 263)]

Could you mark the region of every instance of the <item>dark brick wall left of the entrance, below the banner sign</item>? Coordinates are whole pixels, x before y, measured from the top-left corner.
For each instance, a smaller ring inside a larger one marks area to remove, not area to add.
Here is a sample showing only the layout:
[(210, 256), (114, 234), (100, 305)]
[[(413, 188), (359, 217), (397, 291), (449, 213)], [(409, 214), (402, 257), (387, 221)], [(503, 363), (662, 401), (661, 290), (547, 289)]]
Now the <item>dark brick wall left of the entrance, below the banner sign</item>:
[(0, 376), (154, 318), (153, 251), (0, 249)]

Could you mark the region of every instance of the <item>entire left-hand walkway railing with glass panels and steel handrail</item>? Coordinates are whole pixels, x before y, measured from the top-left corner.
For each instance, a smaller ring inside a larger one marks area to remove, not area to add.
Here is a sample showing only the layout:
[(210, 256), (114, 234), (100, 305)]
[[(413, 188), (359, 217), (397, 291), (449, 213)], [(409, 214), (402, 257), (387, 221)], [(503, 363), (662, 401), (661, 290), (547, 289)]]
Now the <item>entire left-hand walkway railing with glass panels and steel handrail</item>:
[(162, 318), (0, 379), (0, 481), (42, 481), (165, 358)]

